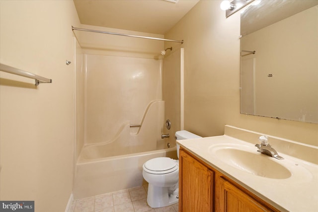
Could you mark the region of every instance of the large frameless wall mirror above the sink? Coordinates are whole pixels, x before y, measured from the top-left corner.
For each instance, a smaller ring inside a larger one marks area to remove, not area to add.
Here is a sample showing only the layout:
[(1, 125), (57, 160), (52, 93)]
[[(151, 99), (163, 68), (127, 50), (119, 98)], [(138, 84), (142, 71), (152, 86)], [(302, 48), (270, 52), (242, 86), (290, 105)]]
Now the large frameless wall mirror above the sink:
[(240, 113), (318, 123), (318, 0), (250, 5), (241, 36)]

